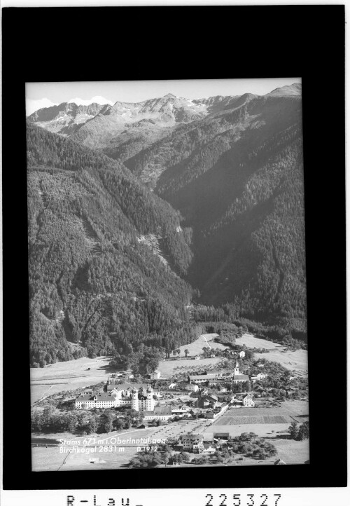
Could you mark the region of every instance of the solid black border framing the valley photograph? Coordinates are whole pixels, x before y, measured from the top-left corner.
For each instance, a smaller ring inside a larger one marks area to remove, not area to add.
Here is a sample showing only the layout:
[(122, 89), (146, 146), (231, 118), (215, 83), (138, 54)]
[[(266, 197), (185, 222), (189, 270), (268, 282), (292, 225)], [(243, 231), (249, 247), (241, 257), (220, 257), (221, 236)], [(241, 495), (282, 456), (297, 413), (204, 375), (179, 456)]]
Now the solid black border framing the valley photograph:
[[(344, 6), (2, 9), (3, 488), (346, 486), (344, 26)], [(31, 472), (25, 83), (290, 76), (302, 78), (310, 464)]]

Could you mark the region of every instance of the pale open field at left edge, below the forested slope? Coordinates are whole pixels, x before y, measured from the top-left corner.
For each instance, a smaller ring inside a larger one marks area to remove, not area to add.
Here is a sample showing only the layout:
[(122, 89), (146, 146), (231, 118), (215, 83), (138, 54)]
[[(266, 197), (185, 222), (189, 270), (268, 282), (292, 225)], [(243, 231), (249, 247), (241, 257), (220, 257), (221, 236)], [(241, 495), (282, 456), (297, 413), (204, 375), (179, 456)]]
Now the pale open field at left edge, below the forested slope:
[[(44, 395), (74, 390), (106, 381), (112, 369), (110, 357), (78, 358), (69, 362), (56, 362), (48, 367), (30, 369), (31, 404)], [(90, 371), (87, 369), (90, 367)]]

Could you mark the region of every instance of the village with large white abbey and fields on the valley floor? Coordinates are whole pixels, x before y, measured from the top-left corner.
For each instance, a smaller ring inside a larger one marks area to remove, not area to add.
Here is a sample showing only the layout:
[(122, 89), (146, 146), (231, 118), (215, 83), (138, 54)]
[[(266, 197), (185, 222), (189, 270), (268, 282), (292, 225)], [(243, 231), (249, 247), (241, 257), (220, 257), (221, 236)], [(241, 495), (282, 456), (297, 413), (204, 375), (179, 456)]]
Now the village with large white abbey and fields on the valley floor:
[(71, 388), (68, 376), (64, 388), (64, 376), (33, 376), (34, 390), (50, 384), (33, 405), (34, 470), (308, 463), (307, 351), (249, 334), (221, 341), (200, 336), (145, 376), (113, 364), (78, 388), (92, 367)]

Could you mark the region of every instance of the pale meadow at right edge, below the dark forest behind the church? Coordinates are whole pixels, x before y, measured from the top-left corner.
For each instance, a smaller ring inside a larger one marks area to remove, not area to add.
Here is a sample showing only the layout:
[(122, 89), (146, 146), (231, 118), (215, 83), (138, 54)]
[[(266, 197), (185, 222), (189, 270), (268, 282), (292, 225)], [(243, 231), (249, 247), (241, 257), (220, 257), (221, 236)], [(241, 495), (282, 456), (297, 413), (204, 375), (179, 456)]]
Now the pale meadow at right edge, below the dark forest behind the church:
[(285, 346), (266, 339), (259, 339), (252, 334), (244, 334), (236, 340), (239, 346), (246, 345), (247, 348), (266, 348), (269, 353), (254, 353), (255, 358), (263, 357), (270, 362), (279, 362), (290, 371), (300, 371), (307, 374), (307, 350), (286, 351)]

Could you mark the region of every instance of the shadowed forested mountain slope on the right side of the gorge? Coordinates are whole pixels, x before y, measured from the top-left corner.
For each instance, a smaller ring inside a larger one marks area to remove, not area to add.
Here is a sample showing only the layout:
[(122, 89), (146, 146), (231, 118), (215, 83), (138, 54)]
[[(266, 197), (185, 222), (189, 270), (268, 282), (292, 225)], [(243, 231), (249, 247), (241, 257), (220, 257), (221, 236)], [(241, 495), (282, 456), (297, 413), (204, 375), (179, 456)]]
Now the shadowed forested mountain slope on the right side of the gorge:
[(201, 302), (253, 319), (306, 317), (302, 104), (287, 88), (215, 97), (215, 112), (125, 160), (193, 228)]

